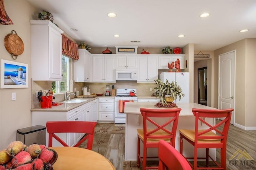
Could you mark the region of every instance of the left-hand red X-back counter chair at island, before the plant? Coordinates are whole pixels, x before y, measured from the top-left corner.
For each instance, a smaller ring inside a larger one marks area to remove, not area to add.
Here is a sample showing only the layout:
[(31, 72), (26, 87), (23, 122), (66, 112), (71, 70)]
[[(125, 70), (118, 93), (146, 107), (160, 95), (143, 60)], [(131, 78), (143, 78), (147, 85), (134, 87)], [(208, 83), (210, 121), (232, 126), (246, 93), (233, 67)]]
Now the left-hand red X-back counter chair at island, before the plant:
[[(175, 147), (176, 129), (180, 108), (175, 109), (146, 109), (140, 108), (143, 117), (143, 129), (137, 129), (138, 148), (137, 148), (137, 167), (142, 163), (142, 169), (154, 169), (158, 167), (146, 167), (147, 148), (158, 148), (158, 142), (163, 139)], [(159, 123), (161, 122), (161, 123)], [(148, 129), (148, 126), (151, 129)], [(153, 127), (153, 128), (152, 128)], [(170, 128), (172, 130), (170, 130)], [(140, 155), (140, 141), (143, 143), (143, 157)]]

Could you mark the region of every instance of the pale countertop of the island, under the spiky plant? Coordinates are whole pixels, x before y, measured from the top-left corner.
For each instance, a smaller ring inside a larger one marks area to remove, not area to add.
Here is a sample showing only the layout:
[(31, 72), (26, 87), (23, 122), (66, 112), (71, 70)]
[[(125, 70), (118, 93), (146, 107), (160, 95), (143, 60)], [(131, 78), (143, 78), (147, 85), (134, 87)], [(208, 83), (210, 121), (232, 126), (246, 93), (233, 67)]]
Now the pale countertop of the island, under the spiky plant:
[[(140, 108), (148, 108), (148, 109), (166, 109), (166, 108), (158, 108), (154, 107), (156, 103), (150, 102), (126, 102), (124, 107), (124, 113), (126, 114), (136, 114), (140, 115)], [(204, 106), (197, 103), (176, 103), (178, 107), (181, 108), (180, 116), (193, 116), (192, 108), (198, 109), (215, 109), (213, 107)]]

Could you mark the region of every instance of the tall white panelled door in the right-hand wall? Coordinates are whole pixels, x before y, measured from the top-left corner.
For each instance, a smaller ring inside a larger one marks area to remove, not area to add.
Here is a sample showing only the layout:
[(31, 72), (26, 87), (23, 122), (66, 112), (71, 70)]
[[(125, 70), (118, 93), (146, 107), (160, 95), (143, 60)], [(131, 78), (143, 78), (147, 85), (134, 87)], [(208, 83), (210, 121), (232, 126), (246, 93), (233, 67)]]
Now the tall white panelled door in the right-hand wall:
[[(234, 108), (235, 55), (236, 51), (219, 55), (219, 109)], [(234, 113), (233, 111), (230, 122), (232, 125), (234, 125)]]

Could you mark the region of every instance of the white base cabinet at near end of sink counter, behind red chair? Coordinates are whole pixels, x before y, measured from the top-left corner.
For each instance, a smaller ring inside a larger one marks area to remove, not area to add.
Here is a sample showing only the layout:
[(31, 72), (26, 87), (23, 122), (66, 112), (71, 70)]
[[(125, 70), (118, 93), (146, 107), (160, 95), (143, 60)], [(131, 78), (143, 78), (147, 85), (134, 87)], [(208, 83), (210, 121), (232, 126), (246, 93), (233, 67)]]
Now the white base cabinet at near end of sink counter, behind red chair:
[[(76, 107), (70, 111), (32, 111), (32, 126), (46, 126), (47, 121), (82, 121), (82, 106)], [(58, 137), (66, 142), (69, 146), (74, 146), (81, 138), (81, 133), (59, 133)], [(46, 146), (48, 146), (48, 133), (46, 131)], [(53, 147), (62, 146), (58, 141), (53, 139)]]

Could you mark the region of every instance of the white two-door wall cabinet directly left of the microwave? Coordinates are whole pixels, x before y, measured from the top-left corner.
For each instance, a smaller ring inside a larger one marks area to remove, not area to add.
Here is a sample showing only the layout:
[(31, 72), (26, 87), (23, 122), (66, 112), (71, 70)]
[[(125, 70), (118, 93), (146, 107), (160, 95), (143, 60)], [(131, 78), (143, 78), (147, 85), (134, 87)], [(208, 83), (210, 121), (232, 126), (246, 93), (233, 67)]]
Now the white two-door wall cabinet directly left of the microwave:
[(93, 56), (92, 82), (116, 82), (115, 56)]

